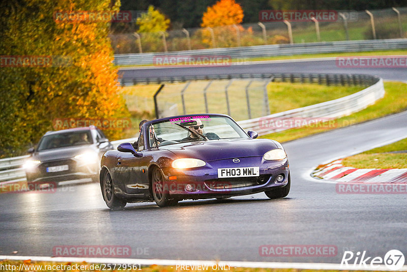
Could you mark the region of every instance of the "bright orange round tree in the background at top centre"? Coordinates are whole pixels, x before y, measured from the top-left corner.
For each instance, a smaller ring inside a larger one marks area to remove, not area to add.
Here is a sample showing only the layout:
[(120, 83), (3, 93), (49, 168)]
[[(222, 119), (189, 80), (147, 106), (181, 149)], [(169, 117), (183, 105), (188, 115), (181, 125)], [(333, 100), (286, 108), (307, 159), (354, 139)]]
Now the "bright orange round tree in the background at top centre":
[(236, 46), (236, 29), (244, 31), (240, 23), (243, 21), (243, 9), (235, 0), (220, 0), (212, 7), (208, 7), (203, 13), (201, 27), (202, 42), (214, 47), (212, 34), (207, 29), (212, 28), (215, 36), (216, 47)]

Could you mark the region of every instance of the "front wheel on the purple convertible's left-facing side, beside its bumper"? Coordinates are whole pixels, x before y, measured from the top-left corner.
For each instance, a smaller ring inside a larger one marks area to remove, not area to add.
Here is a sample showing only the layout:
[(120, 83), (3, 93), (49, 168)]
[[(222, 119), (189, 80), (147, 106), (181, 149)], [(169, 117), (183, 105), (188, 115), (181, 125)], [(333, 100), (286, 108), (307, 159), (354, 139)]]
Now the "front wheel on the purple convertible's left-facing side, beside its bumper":
[(173, 206), (178, 204), (177, 199), (170, 199), (168, 188), (164, 186), (164, 175), (161, 172), (161, 169), (155, 167), (151, 175), (151, 188), (153, 191), (153, 198), (157, 206)]

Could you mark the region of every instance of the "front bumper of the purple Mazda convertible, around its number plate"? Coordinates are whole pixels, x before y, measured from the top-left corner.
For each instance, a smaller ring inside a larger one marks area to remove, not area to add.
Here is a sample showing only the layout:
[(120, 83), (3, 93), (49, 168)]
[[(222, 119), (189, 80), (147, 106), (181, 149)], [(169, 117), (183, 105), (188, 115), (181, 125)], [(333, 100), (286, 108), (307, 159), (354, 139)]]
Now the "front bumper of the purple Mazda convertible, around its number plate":
[[(232, 159), (210, 161), (192, 169), (163, 168), (164, 189), (179, 199), (202, 199), (256, 194), (287, 185), (287, 159), (265, 160), (263, 156), (239, 159), (239, 163)], [(259, 176), (218, 178), (218, 168), (236, 167), (259, 167)], [(278, 175), (284, 177), (282, 181), (276, 180)]]

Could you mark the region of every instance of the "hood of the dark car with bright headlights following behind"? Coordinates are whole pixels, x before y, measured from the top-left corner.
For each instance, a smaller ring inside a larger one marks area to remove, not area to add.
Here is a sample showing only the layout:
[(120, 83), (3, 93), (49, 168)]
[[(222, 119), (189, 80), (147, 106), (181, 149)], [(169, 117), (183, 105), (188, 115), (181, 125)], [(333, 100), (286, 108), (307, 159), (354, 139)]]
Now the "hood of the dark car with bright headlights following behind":
[(35, 152), (32, 158), (38, 159), (40, 161), (67, 159), (73, 158), (74, 156), (79, 155), (86, 151), (97, 152), (92, 145), (71, 146)]

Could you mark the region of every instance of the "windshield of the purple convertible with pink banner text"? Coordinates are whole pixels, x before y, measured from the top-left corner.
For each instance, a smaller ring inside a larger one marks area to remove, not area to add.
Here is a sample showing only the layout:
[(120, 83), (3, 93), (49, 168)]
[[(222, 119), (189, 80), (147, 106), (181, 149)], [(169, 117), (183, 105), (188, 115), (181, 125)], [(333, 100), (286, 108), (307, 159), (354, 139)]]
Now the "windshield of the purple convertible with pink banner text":
[(188, 116), (169, 119), (148, 126), (149, 145), (159, 146), (194, 141), (248, 138), (230, 118), (223, 116)]

